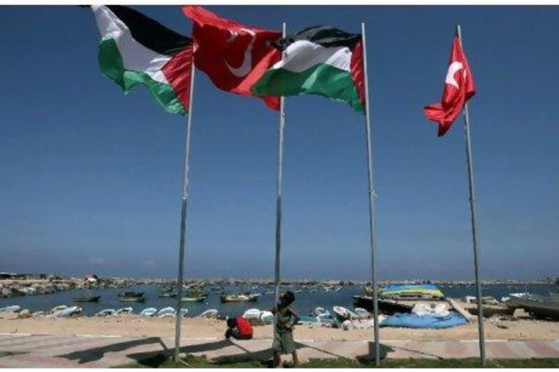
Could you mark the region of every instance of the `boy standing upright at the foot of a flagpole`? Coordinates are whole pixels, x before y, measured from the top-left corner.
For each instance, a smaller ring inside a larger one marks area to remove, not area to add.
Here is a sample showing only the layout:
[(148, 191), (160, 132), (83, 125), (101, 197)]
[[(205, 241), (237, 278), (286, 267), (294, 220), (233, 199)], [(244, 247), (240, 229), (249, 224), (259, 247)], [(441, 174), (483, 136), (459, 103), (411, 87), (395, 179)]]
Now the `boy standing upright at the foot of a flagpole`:
[(297, 366), (298, 364), (295, 341), (293, 341), (293, 326), (299, 321), (299, 315), (290, 306), (293, 302), (295, 302), (295, 295), (288, 290), (279, 296), (279, 304), (272, 309), (274, 315), (277, 313), (274, 342), (272, 344), (274, 368), (279, 366), (282, 362), (282, 354), (291, 354), (293, 357), (293, 366)]

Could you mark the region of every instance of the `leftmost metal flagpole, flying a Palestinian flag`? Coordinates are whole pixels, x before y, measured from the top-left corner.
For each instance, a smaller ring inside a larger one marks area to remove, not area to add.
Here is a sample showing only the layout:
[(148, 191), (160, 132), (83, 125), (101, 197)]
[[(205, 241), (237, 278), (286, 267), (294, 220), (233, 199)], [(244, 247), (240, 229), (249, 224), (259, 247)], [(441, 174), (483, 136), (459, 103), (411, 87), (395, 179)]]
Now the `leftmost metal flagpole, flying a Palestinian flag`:
[(190, 129), (192, 126), (192, 101), (194, 101), (194, 61), (190, 72), (190, 101), (188, 104), (187, 135), (184, 144), (184, 183), (182, 184), (182, 199), (180, 203), (180, 239), (179, 239), (179, 274), (177, 278), (177, 320), (175, 322), (175, 362), (180, 360), (180, 320), (182, 319), (182, 279), (184, 274), (184, 246), (187, 238), (187, 208), (190, 170)]

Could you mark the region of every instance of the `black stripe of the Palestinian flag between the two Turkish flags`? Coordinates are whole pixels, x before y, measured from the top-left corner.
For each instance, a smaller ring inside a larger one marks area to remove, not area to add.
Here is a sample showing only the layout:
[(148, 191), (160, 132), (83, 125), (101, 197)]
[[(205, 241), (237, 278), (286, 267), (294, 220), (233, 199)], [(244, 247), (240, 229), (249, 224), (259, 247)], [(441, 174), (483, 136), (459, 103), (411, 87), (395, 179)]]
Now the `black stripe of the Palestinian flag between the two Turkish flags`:
[(288, 45), (297, 40), (309, 40), (323, 47), (349, 47), (349, 49), (353, 49), (359, 40), (361, 40), (361, 34), (348, 34), (345, 31), (329, 26), (313, 26), (307, 27), (297, 34), (289, 35), (286, 38), (280, 38), (273, 44), (280, 50), (285, 50)]

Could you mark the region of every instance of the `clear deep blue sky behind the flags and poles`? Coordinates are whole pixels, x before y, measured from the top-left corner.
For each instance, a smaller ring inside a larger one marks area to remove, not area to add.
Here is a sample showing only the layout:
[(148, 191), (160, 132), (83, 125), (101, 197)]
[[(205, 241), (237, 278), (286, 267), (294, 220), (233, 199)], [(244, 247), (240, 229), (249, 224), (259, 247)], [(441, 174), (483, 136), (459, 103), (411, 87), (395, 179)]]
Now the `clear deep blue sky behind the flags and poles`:
[[(183, 34), (177, 6), (138, 10)], [(463, 121), (436, 137), (456, 22), (477, 83), (484, 278), (556, 276), (558, 7), (217, 6), (288, 32), (367, 24), (380, 278), (473, 277)], [(0, 7), (0, 271), (174, 276), (184, 119), (97, 65), (92, 14)], [(277, 114), (196, 75), (187, 276), (273, 276)], [(370, 278), (363, 117), (286, 99), (284, 276)]]

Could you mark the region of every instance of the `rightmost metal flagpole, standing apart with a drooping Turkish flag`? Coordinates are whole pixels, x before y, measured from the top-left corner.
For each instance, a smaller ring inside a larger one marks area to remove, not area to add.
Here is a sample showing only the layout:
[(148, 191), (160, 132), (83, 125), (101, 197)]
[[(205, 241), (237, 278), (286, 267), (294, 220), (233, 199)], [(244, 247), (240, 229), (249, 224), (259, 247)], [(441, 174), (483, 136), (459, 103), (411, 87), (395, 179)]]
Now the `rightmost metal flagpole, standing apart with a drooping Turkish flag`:
[[(458, 40), (460, 40), (460, 47), (462, 47), (462, 29), (460, 24), (456, 25), (456, 32), (458, 33)], [(476, 223), (476, 206), (475, 206), (475, 192), (474, 192), (474, 164), (472, 161), (472, 145), (470, 143), (470, 114), (467, 110), (467, 102), (464, 105), (464, 134), (466, 140), (466, 158), (467, 158), (467, 175), (470, 181), (470, 211), (472, 214), (472, 240), (474, 244), (474, 271), (476, 276), (476, 290), (477, 290), (477, 318), (479, 326), (479, 356), (481, 357), (481, 366), (486, 365), (485, 359), (485, 334), (484, 334), (484, 306), (481, 303), (481, 282), (479, 281), (479, 263), (478, 263), (478, 238), (477, 238), (477, 223)]]

